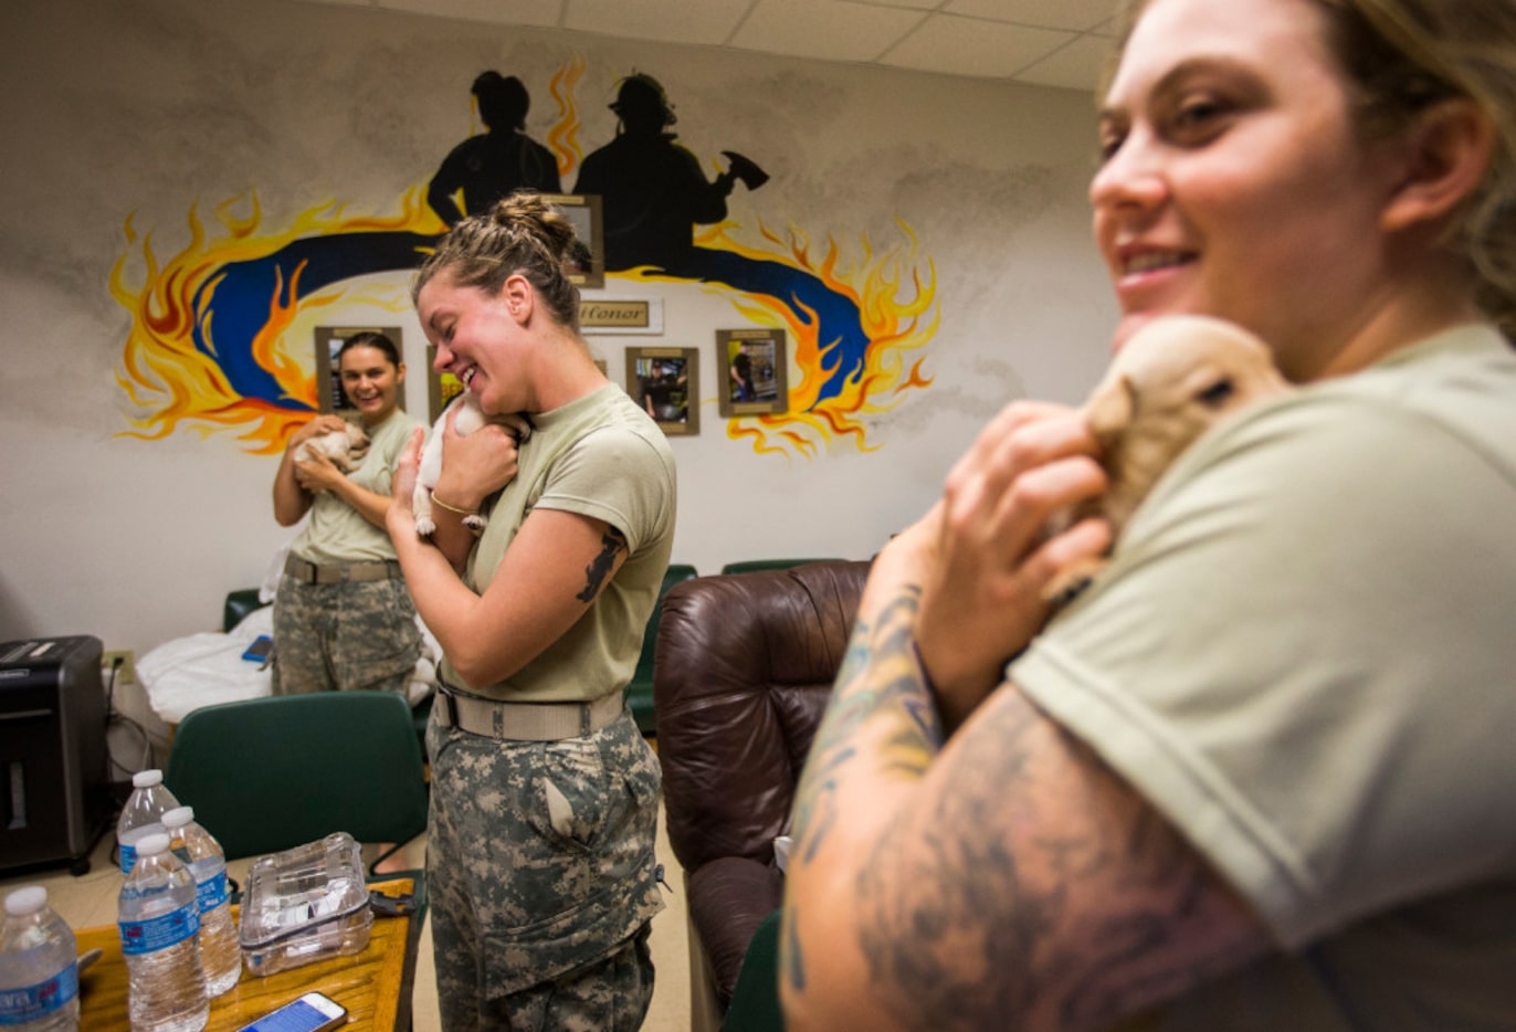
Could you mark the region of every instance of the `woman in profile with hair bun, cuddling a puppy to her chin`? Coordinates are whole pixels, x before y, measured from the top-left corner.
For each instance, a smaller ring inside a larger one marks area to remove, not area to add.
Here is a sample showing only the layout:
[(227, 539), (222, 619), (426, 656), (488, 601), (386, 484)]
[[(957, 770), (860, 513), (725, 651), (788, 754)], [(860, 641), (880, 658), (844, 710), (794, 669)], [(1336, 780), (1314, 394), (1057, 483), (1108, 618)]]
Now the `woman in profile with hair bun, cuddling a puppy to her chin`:
[(409, 503), (415, 435), (388, 518), (444, 653), (426, 876), (449, 1030), (635, 1029), (652, 999), (659, 773), (622, 691), (669, 565), (675, 470), (579, 336), (564, 270), (581, 247), (515, 194), (458, 223), (414, 291), (434, 368), (535, 427), (518, 446), (449, 418), (432, 541)]

